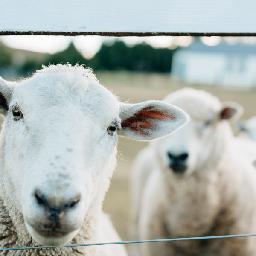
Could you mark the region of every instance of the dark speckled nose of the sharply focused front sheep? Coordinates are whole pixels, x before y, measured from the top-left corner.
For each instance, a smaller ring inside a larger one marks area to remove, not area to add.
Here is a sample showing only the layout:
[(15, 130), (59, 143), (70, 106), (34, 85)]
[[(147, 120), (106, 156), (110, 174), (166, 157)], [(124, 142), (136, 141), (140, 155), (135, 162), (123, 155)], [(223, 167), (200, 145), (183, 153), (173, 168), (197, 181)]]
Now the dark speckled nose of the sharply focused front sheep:
[(50, 197), (47, 198), (47, 196), (39, 190), (35, 190), (35, 198), (37, 204), (44, 207), (49, 218), (59, 226), (61, 219), (64, 217), (64, 212), (73, 208), (80, 201), (81, 194), (78, 194), (73, 198), (69, 198), (65, 203), (63, 203), (64, 200), (60, 200), (61, 204), (56, 203), (56, 199), (53, 200)]

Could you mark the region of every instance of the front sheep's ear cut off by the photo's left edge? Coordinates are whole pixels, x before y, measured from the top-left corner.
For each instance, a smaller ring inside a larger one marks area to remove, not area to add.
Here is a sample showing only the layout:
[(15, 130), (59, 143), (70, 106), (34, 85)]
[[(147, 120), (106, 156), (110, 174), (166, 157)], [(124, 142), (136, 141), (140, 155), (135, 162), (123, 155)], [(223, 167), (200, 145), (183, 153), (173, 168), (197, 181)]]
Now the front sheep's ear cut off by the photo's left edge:
[(0, 114), (6, 116), (9, 103), (12, 98), (12, 91), (17, 84), (8, 82), (0, 77)]

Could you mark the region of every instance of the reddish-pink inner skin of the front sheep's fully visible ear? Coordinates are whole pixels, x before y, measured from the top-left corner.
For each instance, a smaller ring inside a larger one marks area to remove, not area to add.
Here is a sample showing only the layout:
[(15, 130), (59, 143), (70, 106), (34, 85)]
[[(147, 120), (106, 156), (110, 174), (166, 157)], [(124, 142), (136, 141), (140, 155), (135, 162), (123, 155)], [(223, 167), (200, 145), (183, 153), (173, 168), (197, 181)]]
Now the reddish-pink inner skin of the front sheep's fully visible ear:
[[(158, 111), (149, 111), (149, 110), (141, 110), (135, 114), (135, 116), (131, 116), (125, 119), (122, 122), (122, 127), (128, 127), (133, 130), (135, 133), (140, 135), (147, 135), (148, 132), (146, 130), (152, 129), (156, 127), (155, 122), (153, 120), (174, 120), (174, 116), (169, 116), (164, 113)], [(146, 130), (145, 130), (146, 129)]]

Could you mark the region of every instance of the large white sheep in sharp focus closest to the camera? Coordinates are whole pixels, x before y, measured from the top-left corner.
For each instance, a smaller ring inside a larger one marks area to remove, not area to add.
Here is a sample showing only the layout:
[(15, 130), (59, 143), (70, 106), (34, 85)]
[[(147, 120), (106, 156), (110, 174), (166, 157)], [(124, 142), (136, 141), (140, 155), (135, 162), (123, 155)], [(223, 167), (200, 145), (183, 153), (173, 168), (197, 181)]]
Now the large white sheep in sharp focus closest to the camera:
[[(117, 135), (151, 140), (187, 121), (160, 101), (120, 103), (91, 70), (52, 65), (0, 78), (0, 247), (119, 241), (102, 201)], [(124, 256), (123, 245), (13, 250), (1, 255)]]

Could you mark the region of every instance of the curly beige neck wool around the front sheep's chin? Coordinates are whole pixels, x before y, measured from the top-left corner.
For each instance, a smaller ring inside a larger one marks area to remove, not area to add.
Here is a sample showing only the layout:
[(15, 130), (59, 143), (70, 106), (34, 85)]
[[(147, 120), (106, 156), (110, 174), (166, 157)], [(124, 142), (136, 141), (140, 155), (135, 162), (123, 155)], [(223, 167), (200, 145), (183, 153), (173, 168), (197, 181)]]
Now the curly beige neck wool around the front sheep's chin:
[[(9, 207), (8, 199), (0, 199), (0, 248), (32, 247), (38, 246), (26, 230), (23, 215), (15, 209)], [(96, 218), (87, 218), (79, 233), (73, 238), (70, 244), (84, 244), (96, 242), (97, 227)], [(18, 227), (18, 228), (17, 228)], [(96, 247), (62, 247), (40, 249), (42, 255), (68, 256), (68, 255), (98, 255)], [(38, 255), (38, 249), (33, 250), (12, 250), (8, 251), (8, 256), (18, 256), (27, 253), (31, 256)]]

